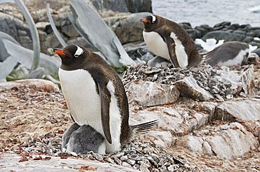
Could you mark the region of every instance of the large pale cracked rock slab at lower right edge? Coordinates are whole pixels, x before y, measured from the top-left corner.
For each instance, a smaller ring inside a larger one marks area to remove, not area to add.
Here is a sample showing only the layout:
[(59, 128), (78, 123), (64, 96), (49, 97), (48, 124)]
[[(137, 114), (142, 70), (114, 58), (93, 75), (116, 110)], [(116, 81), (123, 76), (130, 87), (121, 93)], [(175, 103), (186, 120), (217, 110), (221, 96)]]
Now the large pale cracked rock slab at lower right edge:
[(256, 137), (238, 122), (205, 129), (197, 136), (185, 136), (177, 145), (225, 159), (242, 157), (259, 147)]

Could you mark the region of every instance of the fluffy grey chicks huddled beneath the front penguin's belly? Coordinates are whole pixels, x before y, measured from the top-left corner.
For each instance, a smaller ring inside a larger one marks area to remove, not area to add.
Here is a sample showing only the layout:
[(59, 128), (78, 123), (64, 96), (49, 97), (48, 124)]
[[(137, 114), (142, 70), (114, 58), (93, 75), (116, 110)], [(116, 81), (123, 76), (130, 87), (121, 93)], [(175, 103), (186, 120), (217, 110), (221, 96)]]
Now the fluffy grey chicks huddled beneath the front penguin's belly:
[(67, 150), (82, 155), (90, 151), (105, 154), (105, 138), (96, 129), (84, 124), (72, 132)]

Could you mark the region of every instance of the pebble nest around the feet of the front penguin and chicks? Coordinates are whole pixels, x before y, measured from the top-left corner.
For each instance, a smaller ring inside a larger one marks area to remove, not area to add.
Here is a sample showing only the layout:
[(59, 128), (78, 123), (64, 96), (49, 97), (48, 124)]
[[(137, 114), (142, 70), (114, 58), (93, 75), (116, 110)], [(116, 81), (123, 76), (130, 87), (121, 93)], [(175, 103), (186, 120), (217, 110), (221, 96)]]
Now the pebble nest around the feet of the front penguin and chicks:
[[(140, 171), (188, 171), (190, 166), (185, 159), (175, 158), (155, 144), (145, 141), (140, 136), (135, 136), (130, 143), (116, 154), (100, 155), (89, 152), (87, 155), (77, 155), (61, 149), (62, 131), (49, 132), (43, 136), (30, 137), (24, 143), (13, 146), (5, 152), (15, 152), (21, 155), (20, 162), (28, 160), (49, 160), (58, 156), (62, 159), (67, 157), (82, 158), (98, 162), (106, 162), (126, 166)], [(42, 156), (47, 155), (47, 156)], [(43, 158), (44, 157), (44, 158)]]

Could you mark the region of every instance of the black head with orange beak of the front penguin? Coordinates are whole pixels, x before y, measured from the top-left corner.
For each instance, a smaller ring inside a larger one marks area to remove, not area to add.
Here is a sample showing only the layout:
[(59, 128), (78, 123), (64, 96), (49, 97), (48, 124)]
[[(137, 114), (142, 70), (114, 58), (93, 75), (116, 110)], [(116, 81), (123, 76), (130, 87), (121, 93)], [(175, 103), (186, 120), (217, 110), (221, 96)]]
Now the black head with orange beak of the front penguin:
[(82, 64), (88, 55), (87, 50), (79, 45), (67, 45), (63, 49), (54, 48), (53, 52), (60, 56), (63, 66), (69, 67)]

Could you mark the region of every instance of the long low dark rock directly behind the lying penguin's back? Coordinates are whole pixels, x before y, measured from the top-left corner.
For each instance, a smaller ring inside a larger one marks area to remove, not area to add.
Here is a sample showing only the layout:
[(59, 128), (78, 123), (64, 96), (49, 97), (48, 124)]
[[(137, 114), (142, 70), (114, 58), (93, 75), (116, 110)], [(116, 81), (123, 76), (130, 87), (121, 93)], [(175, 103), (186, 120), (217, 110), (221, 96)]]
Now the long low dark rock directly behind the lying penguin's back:
[(215, 38), (217, 41), (223, 39), (225, 42), (228, 41), (242, 41), (243, 39), (246, 38), (245, 35), (241, 34), (233, 34), (228, 31), (209, 31), (207, 34), (205, 34), (202, 37), (203, 41), (206, 41), (209, 38)]

